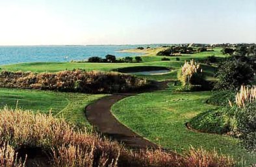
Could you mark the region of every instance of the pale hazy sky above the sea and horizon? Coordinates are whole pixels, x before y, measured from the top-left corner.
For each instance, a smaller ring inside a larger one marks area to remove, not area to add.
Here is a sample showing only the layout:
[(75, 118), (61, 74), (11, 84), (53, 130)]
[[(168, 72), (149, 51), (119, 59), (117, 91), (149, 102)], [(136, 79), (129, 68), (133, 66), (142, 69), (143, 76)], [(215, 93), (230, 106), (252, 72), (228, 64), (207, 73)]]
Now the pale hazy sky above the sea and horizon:
[(0, 0), (0, 45), (256, 43), (255, 0)]

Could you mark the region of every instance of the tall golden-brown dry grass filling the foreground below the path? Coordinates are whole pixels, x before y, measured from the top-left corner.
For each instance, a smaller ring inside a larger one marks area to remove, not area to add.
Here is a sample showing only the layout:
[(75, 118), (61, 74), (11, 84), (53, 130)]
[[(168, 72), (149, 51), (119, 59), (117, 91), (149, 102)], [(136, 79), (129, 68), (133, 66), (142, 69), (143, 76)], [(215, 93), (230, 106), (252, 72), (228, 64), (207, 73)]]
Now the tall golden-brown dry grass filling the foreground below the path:
[[(192, 149), (181, 156), (162, 150), (131, 151), (96, 134), (76, 130), (52, 115), (21, 109), (0, 110), (0, 139), (15, 149), (40, 147), (51, 153), (51, 166), (233, 166), (235, 161), (216, 152)], [(10, 148), (1, 162), (15, 159)], [(29, 158), (29, 157), (28, 157)], [(12, 163), (13, 161), (10, 161)]]

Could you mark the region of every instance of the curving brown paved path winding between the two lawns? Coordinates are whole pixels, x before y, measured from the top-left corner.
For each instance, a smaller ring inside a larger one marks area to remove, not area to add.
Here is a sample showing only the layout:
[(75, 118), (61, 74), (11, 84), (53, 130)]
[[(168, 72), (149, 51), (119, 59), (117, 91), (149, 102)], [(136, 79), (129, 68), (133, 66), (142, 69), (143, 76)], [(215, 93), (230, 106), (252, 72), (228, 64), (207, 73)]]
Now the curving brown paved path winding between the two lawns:
[[(156, 82), (155, 89), (151, 91), (166, 89), (166, 87), (168, 87), (168, 83), (168, 81)], [(86, 106), (86, 118), (92, 126), (97, 128), (97, 131), (103, 133), (103, 135), (107, 135), (111, 139), (122, 142), (129, 148), (160, 148), (157, 144), (150, 142), (127, 128), (127, 126), (123, 125), (116, 119), (116, 117), (114, 117), (114, 115), (112, 115), (111, 107), (113, 104), (123, 98), (135, 95), (138, 95), (138, 93), (122, 93), (100, 98), (96, 102)]]

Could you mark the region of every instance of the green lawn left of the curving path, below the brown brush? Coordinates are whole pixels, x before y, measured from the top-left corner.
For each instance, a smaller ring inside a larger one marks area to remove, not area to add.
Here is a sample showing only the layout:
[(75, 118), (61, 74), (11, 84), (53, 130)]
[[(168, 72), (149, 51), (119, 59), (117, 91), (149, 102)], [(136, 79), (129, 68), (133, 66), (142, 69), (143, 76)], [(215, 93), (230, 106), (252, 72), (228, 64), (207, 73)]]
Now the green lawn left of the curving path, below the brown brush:
[(105, 95), (87, 95), (78, 93), (58, 93), (26, 89), (0, 89), (0, 107), (9, 106), (32, 109), (41, 113), (51, 113), (58, 117), (90, 127), (84, 116), (84, 108)]

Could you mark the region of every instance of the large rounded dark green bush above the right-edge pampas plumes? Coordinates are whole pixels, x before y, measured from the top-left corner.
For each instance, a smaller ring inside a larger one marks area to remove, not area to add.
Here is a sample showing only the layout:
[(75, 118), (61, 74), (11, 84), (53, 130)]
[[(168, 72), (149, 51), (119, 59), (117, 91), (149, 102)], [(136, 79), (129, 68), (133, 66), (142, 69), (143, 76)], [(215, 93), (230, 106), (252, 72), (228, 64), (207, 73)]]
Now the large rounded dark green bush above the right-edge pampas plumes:
[(240, 85), (248, 84), (253, 80), (253, 69), (250, 65), (237, 61), (224, 61), (216, 72), (218, 82), (214, 85), (216, 90), (235, 90)]

